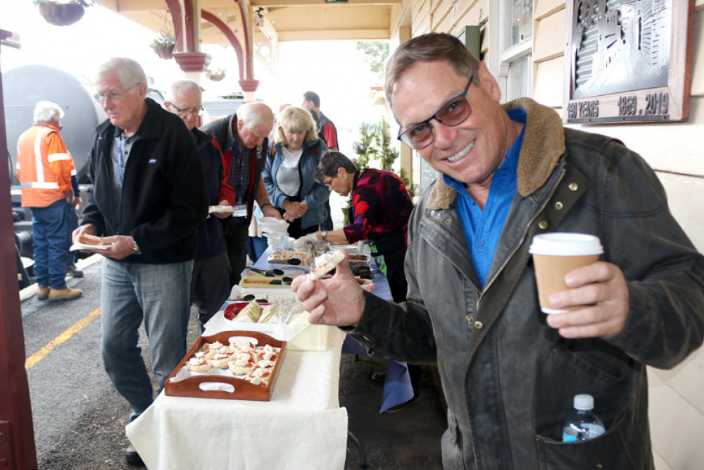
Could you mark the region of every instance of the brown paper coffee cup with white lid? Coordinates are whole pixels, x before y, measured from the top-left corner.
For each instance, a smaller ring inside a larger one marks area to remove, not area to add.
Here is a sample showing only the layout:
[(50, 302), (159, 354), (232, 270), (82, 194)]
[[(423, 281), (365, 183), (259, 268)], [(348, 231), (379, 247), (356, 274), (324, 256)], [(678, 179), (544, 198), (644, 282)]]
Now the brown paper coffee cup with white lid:
[(561, 314), (580, 308), (551, 309), (548, 299), (554, 292), (568, 290), (567, 273), (598, 261), (604, 252), (599, 238), (586, 233), (543, 233), (533, 237), (529, 252), (533, 255), (541, 310), (546, 314)]

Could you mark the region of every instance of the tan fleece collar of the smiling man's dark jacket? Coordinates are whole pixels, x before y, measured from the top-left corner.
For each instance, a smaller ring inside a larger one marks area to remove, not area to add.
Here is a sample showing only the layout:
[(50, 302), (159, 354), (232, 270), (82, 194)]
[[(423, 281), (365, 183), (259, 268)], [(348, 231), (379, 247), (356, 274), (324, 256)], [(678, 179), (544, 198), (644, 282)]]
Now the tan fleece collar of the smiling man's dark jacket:
[[(527, 112), (523, 145), (518, 156), (517, 190), (523, 197), (533, 194), (545, 184), (565, 153), (565, 134), (562, 120), (555, 110), (536, 103), (530, 98), (520, 98), (503, 105), (506, 111), (523, 108)], [(442, 175), (428, 194), (428, 209), (449, 209), (457, 193), (445, 184)]]

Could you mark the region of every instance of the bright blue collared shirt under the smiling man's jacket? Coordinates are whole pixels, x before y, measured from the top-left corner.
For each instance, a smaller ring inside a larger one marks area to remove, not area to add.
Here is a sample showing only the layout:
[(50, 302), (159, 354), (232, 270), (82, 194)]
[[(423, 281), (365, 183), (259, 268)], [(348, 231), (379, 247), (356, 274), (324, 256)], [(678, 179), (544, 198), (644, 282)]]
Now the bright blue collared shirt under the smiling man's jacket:
[(501, 237), (501, 231), (511, 208), (513, 195), (516, 192), (516, 168), (518, 154), (520, 154), (523, 144), (527, 113), (522, 108), (511, 109), (508, 111), (508, 117), (517, 123), (523, 123), (523, 129), (508, 150), (501, 166), (494, 171), (491, 187), (489, 187), (489, 197), (486, 199), (483, 211), (467, 193), (464, 183), (460, 183), (448, 175), (443, 175), (445, 184), (457, 191), (458, 197), (455, 199), (455, 206), (462, 221), (474, 270), (477, 271), (482, 287), (486, 282), (486, 276), (489, 275), (498, 238)]

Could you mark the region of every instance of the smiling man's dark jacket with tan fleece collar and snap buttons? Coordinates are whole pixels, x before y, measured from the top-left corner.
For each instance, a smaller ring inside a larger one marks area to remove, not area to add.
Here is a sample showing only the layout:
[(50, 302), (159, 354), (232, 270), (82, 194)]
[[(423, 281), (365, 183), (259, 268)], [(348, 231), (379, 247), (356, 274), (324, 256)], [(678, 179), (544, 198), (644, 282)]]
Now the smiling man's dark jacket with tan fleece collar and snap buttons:
[[(440, 177), (408, 226), (408, 302), (365, 292), (351, 335), (379, 357), (437, 363), (447, 469), (652, 469), (646, 364), (672, 368), (701, 345), (704, 258), (639, 155), (562, 128), (530, 99), (515, 107), (528, 112), (518, 190), (484, 288)], [(615, 337), (568, 340), (547, 326), (528, 247), (553, 231), (597, 235), (601, 259), (622, 269), (629, 314)], [(578, 393), (593, 395), (607, 431), (562, 443)]]

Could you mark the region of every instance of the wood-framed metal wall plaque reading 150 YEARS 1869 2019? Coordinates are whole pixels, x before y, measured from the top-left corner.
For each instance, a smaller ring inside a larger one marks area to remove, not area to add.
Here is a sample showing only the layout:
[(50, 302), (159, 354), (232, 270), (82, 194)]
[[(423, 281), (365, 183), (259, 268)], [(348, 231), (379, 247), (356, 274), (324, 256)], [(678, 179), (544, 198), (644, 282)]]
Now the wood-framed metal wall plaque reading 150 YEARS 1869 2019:
[(565, 123), (689, 117), (694, 0), (567, 0)]

